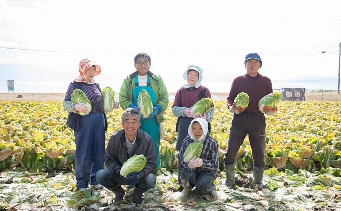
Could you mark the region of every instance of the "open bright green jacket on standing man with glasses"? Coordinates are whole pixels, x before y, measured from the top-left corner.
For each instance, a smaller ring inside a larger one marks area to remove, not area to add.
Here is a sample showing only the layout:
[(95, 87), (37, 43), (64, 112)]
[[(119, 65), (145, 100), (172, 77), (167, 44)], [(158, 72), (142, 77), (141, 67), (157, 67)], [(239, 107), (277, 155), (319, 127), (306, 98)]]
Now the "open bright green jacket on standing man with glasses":
[[(127, 109), (129, 105), (133, 103), (132, 90), (134, 88), (136, 76), (137, 76), (137, 71), (127, 76), (124, 79), (122, 86), (119, 90), (119, 95), (118, 95), (119, 104), (123, 110)], [(156, 114), (156, 120), (157, 120), (157, 123), (159, 124), (160, 122), (164, 120), (163, 114), (168, 106), (168, 102), (169, 102), (168, 91), (160, 76), (155, 75), (151, 73), (150, 71), (148, 72), (148, 76), (149, 76), (149, 82), (150, 82), (151, 88), (153, 89), (156, 95), (155, 105), (161, 106), (161, 111), (158, 114)]]

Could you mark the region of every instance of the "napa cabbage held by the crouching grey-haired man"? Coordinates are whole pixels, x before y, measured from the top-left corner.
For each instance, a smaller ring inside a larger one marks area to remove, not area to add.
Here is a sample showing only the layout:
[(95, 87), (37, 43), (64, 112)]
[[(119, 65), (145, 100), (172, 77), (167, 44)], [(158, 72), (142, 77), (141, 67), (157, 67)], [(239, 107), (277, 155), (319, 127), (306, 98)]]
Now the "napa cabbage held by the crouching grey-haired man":
[(143, 154), (133, 155), (123, 163), (119, 173), (125, 177), (128, 173), (139, 172), (144, 168), (146, 163), (147, 159)]

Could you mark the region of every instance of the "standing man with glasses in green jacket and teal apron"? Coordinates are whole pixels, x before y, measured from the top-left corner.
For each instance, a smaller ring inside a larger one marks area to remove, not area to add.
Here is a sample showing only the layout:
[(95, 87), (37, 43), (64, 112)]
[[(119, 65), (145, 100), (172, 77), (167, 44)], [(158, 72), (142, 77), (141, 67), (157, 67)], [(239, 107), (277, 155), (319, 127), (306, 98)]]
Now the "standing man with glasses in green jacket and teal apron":
[(153, 104), (153, 111), (147, 118), (141, 118), (140, 129), (148, 133), (153, 139), (156, 152), (156, 169), (160, 166), (160, 122), (168, 106), (168, 92), (162, 78), (149, 71), (150, 57), (146, 53), (139, 53), (134, 58), (136, 71), (127, 76), (119, 90), (119, 103), (123, 110), (128, 107), (140, 110), (137, 97), (142, 89), (146, 90)]

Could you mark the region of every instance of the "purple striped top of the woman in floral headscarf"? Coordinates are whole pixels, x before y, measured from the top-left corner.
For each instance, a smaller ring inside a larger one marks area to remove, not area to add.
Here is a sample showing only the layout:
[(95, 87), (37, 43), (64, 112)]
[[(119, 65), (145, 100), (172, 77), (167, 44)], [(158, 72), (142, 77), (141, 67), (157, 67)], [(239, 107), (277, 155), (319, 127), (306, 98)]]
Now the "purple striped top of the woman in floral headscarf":
[[(86, 94), (86, 96), (89, 98), (91, 102), (91, 111), (90, 114), (94, 113), (103, 113), (102, 108), (102, 95), (96, 86), (96, 84), (87, 84), (87, 83), (80, 83), (80, 88), (83, 90), (83, 92)], [(71, 101), (71, 94), (74, 90), (73, 83), (70, 83), (68, 90), (66, 91), (64, 101)], [(70, 104), (71, 105), (71, 104)], [(74, 107), (73, 107), (74, 109)], [(67, 111), (70, 112), (69, 109)], [(71, 109), (72, 111), (72, 109)]]

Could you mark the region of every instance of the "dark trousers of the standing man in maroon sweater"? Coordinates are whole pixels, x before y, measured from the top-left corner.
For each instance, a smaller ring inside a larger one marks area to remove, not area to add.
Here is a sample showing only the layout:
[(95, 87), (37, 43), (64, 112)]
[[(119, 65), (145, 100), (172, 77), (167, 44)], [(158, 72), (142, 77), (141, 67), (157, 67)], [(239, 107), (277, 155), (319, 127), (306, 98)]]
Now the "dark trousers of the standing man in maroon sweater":
[(253, 163), (265, 165), (265, 116), (263, 113), (243, 112), (234, 114), (227, 149), (224, 156), (225, 164), (235, 161), (236, 154), (249, 134)]

